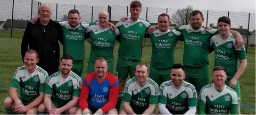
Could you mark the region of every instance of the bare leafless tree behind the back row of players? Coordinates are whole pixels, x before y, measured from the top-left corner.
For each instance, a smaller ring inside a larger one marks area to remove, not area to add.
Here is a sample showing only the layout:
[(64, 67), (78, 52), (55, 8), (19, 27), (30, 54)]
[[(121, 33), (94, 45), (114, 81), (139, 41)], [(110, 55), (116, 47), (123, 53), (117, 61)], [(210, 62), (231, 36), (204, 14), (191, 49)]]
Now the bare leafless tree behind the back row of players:
[(189, 22), (189, 14), (193, 11), (193, 6), (188, 5), (185, 8), (178, 9), (171, 16), (171, 22), (176, 25), (186, 25)]

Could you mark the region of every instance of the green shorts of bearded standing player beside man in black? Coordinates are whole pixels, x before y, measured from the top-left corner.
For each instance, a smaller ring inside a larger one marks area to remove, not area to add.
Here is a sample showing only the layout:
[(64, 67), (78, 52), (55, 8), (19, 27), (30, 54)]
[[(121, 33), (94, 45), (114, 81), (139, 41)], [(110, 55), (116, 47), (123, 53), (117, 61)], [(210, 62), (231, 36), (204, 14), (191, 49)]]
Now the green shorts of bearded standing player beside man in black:
[(73, 60), (72, 71), (75, 72), (78, 76), (82, 77), (82, 69), (84, 68), (84, 59), (83, 60)]

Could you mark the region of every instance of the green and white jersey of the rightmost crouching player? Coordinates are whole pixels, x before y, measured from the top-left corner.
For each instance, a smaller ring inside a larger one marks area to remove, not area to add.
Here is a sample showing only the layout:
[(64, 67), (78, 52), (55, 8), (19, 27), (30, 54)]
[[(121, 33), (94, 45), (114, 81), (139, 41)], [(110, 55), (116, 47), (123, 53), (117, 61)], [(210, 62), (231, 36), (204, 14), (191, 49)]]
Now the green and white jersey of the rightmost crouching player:
[(205, 85), (199, 93), (199, 114), (237, 114), (238, 98), (235, 90), (225, 85), (218, 91), (213, 84)]

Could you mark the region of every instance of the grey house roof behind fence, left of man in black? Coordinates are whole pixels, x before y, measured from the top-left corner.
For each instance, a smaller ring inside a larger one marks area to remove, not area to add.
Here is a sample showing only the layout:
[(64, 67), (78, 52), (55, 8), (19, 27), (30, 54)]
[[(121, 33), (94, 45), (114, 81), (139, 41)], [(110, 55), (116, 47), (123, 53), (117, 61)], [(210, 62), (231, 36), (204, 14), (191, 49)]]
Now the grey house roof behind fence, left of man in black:
[[(7, 19), (4, 23), (4, 28), (11, 28), (12, 19)], [(24, 29), (27, 26), (27, 20), (13, 20), (13, 28)]]

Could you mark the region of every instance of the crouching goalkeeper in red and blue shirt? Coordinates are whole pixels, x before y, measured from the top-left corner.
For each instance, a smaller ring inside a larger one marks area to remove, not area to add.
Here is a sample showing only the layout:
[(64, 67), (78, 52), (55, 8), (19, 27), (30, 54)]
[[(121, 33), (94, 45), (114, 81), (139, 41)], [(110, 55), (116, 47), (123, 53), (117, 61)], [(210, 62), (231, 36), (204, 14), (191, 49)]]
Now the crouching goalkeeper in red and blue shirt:
[(95, 60), (94, 70), (82, 81), (76, 114), (118, 114), (118, 78), (107, 72), (108, 63), (102, 57)]

